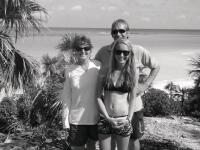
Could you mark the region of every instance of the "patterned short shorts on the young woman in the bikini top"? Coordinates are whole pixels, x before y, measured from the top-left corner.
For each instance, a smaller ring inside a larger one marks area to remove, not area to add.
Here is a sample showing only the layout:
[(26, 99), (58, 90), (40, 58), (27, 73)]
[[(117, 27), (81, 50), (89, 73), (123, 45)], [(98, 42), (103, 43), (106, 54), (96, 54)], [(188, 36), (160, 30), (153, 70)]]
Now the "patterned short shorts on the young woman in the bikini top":
[(120, 136), (129, 136), (132, 133), (131, 122), (129, 121), (126, 125), (121, 128), (113, 128), (112, 125), (103, 117), (100, 117), (98, 123), (99, 134), (115, 134)]

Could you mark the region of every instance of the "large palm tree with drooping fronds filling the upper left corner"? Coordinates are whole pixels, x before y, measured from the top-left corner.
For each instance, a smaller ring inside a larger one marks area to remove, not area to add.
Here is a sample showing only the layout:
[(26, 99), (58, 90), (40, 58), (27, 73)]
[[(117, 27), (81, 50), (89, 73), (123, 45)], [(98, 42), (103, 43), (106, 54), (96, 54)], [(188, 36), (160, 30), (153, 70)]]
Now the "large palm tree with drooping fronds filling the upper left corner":
[(37, 13), (47, 14), (45, 8), (33, 0), (0, 1), (0, 71), (6, 87), (16, 89), (36, 79), (37, 62), (15, 48), (12, 36), (17, 42), (29, 29), (40, 31), (43, 20)]

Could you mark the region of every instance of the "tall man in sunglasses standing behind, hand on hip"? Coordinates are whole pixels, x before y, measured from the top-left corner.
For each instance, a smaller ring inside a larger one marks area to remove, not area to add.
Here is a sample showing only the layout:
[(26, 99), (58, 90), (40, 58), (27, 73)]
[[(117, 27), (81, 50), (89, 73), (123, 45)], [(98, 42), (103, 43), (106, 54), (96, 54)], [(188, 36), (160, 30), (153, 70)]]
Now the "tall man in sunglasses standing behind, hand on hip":
[[(118, 19), (113, 22), (111, 28), (111, 36), (114, 40), (118, 38), (124, 37), (128, 38), (129, 25), (123, 19)], [(95, 59), (99, 60), (102, 63), (102, 67), (106, 67), (109, 65), (109, 56), (111, 54), (112, 44), (102, 47), (97, 54), (95, 55)], [(135, 112), (132, 118), (132, 126), (133, 133), (129, 142), (129, 150), (140, 150), (140, 142), (139, 139), (144, 134), (144, 120), (143, 120), (143, 103), (141, 99), (142, 93), (151, 85), (155, 77), (159, 72), (159, 65), (154, 60), (154, 58), (150, 55), (150, 53), (139, 45), (132, 45), (134, 50), (134, 57), (136, 62), (137, 70), (140, 72), (142, 68), (149, 68), (150, 73), (148, 74), (145, 81), (139, 79), (138, 87), (137, 87), (137, 98), (135, 105)], [(112, 150), (115, 149), (115, 146), (112, 142)]]

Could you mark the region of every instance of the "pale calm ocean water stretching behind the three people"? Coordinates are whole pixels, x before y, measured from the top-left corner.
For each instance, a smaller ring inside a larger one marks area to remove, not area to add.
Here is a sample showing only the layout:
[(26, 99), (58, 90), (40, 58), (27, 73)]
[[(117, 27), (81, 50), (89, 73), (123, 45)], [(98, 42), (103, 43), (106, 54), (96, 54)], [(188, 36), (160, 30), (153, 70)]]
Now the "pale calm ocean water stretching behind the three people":
[[(52, 57), (58, 54), (56, 47), (66, 33), (90, 37), (94, 46), (93, 56), (100, 47), (112, 42), (109, 29), (50, 28), (19, 39), (16, 47), (40, 61), (45, 54)], [(169, 81), (180, 86), (192, 85), (188, 70), (191, 69), (190, 59), (200, 54), (200, 30), (133, 29), (129, 38), (134, 44), (148, 49), (159, 62), (161, 69), (155, 87), (162, 88)]]

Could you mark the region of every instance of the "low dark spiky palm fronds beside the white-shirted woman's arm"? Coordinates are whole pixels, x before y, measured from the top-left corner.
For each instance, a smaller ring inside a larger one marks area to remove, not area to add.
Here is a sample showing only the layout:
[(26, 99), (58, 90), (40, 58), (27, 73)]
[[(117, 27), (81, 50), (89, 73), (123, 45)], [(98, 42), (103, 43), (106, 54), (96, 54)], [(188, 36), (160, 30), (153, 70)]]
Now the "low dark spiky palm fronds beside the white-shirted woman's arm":
[(54, 120), (59, 120), (62, 108), (62, 102), (59, 97), (61, 89), (62, 84), (52, 80), (46, 87), (38, 91), (34, 98), (30, 115), (30, 122), (33, 127), (45, 122), (52, 125), (55, 123)]

